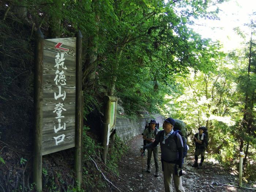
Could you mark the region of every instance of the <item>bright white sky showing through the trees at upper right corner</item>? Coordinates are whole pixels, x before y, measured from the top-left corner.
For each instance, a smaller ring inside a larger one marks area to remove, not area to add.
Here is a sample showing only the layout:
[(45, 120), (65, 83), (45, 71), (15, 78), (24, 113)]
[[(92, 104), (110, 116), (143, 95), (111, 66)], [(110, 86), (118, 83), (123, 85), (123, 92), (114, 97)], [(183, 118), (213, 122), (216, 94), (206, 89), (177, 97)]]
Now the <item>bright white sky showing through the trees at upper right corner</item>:
[(244, 23), (249, 23), (252, 13), (256, 12), (256, 0), (230, 0), (218, 7), (221, 10), (220, 20), (195, 20), (192, 28), (204, 38), (221, 41), (224, 51), (238, 48), (243, 39), (233, 29), (240, 27), (241, 30), (250, 33), (249, 29), (244, 27)]

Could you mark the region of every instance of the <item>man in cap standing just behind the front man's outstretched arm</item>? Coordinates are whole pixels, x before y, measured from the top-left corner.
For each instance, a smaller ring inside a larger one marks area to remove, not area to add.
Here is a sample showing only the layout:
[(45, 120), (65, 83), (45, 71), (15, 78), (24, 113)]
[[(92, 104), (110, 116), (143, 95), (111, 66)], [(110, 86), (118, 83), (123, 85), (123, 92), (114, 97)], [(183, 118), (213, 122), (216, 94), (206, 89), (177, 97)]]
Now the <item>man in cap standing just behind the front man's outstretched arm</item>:
[[(143, 133), (143, 139), (146, 140), (146, 143), (153, 143), (155, 136), (157, 136), (157, 133), (159, 132), (159, 129), (157, 129), (155, 126), (157, 125), (157, 122), (152, 119), (149, 123), (149, 128), (145, 129)], [(150, 169), (150, 163), (151, 163), (151, 156), (152, 152), (154, 155), (154, 161), (155, 161), (155, 177), (159, 176), (159, 163), (158, 163), (158, 145), (148, 148), (147, 150), (147, 171), (148, 173), (151, 172)]]

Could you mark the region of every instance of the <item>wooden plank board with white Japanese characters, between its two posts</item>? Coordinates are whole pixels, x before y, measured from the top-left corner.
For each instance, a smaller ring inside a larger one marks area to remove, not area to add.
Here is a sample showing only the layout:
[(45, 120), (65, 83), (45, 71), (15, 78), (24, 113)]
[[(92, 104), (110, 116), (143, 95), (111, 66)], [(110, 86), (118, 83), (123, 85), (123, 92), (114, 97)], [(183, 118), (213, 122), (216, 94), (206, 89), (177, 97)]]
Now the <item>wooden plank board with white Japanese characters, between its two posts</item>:
[(75, 147), (76, 38), (45, 39), (42, 155)]

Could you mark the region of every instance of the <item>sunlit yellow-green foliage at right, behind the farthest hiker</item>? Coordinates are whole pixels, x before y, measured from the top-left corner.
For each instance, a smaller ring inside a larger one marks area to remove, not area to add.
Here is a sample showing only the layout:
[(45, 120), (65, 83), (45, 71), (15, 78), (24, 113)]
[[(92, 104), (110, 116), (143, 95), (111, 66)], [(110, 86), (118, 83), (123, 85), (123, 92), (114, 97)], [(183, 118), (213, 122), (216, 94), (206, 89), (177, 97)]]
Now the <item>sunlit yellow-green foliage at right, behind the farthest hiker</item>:
[[(207, 126), (208, 152), (223, 166), (236, 169), (242, 149), (247, 153), (245, 167), (255, 170), (255, 44), (223, 56), (214, 57), (217, 65), (210, 72), (190, 68), (188, 75), (176, 75), (182, 95), (170, 96), (166, 106), (173, 117), (184, 119), (193, 134), (197, 127)], [(255, 174), (245, 170), (245, 178), (253, 180)]]

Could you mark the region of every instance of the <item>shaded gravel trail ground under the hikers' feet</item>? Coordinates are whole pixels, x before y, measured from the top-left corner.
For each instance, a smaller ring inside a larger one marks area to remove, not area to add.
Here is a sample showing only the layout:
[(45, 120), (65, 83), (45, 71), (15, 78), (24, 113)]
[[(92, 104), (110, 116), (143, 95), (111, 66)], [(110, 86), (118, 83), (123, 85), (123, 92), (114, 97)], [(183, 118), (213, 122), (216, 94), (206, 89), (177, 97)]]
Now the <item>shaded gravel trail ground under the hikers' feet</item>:
[[(139, 148), (142, 146), (142, 136), (135, 136), (127, 142), (129, 146), (128, 153), (121, 158), (118, 163), (119, 178), (115, 177), (112, 180), (113, 184), (120, 191), (133, 192), (164, 192), (163, 173), (161, 165), (161, 150), (159, 147), (159, 177), (154, 177), (155, 165), (152, 154), (151, 158), (151, 173), (146, 172), (147, 154), (142, 158)], [(143, 159), (143, 168), (142, 168)], [(188, 156), (185, 158), (185, 163), (182, 167), (183, 176), (182, 182), (186, 192), (248, 192), (251, 189), (232, 187), (227, 185), (238, 185), (238, 175), (232, 174), (231, 171), (224, 170), (221, 165), (214, 164), (206, 160), (200, 168), (192, 167), (193, 151), (189, 150)], [(199, 157), (200, 161), (200, 157)], [(143, 172), (142, 172), (143, 171)], [(121, 178), (121, 179), (120, 179)], [(143, 179), (142, 179), (143, 178)], [(142, 188), (143, 180), (143, 188)], [(222, 185), (226, 184), (226, 185)], [(172, 183), (173, 186), (173, 183)], [(246, 186), (246, 187), (253, 187)], [(255, 186), (254, 186), (255, 187)], [(144, 190), (143, 190), (144, 189)], [(118, 191), (114, 187), (111, 191)], [(173, 191), (175, 188), (173, 186)]]

